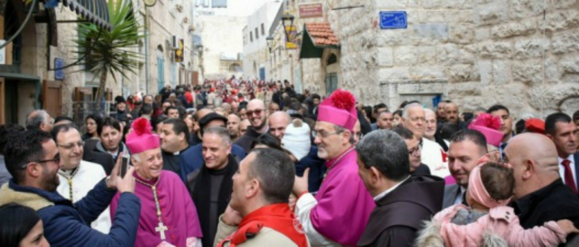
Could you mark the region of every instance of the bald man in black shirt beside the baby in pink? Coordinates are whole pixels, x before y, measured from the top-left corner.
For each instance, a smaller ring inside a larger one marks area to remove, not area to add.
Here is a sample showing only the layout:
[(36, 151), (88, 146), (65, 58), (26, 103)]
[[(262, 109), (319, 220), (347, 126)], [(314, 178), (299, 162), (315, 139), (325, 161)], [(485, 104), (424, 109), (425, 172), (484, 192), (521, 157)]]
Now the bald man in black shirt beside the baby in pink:
[[(504, 149), (515, 176), (511, 206), (523, 228), (569, 219), (579, 226), (579, 198), (559, 177), (557, 149), (545, 135), (516, 135)], [(570, 239), (567, 238), (567, 241)]]

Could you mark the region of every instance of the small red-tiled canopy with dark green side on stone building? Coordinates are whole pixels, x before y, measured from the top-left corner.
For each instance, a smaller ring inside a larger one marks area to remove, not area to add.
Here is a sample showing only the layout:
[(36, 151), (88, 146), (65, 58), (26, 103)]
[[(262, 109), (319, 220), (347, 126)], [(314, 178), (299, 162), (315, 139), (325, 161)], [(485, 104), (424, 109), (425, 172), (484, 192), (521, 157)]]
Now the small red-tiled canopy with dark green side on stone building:
[(329, 24), (304, 24), (299, 58), (320, 58), (324, 49), (340, 49), (339, 40)]

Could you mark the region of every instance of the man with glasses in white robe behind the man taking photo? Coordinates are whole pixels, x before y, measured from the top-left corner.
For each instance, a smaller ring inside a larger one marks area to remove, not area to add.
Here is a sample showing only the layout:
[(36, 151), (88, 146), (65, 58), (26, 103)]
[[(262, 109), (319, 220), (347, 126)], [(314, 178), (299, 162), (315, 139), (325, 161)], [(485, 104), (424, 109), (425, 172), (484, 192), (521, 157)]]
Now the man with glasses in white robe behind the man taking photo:
[[(60, 185), (58, 194), (68, 198), (72, 203), (79, 201), (105, 178), (102, 165), (82, 160), (83, 142), (74, 124), (54, 126), (52, 138), (58, 147), (62, 167), (58, 169)], [(111, 213), (105, 209), (90, 225), (101, 233), (108, 234), (111, 230)]]

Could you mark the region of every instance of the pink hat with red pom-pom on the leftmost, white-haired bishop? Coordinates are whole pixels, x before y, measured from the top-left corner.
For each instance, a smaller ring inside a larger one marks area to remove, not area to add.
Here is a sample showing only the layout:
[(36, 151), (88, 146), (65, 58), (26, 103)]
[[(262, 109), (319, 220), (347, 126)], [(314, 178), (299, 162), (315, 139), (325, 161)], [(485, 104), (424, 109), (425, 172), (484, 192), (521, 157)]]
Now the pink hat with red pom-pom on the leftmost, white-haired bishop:
[(131, 154), (145, 152), (161, 146), (159, 136), (153, 134), (151, 123), (144, 117), (139, 117), (131, 124), (133, 131), (127, 135), (126, 145)]

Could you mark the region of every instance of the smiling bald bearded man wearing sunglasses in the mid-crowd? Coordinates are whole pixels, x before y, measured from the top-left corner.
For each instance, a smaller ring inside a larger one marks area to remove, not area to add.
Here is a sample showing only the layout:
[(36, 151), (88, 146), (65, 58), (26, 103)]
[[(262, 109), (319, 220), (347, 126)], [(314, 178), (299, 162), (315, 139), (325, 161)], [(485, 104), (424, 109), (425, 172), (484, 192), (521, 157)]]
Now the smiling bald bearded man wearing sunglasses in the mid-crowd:
[(247, 132), (235, 144), (245, 149), (245, 152), (251, 151), (251, 143), (255, 141), (260, 135), (265, 134), (269, 126), (267, 126), (267, 109), (265, 103), (261, 99), (252, 99), (247, 104), (247, 119), (251, 122), (251, 127), (247, 128)]

